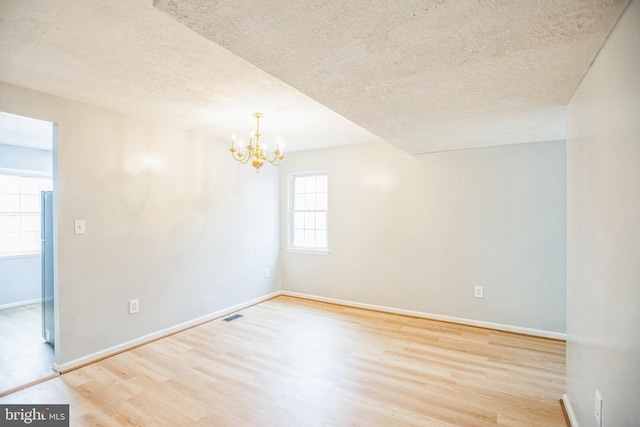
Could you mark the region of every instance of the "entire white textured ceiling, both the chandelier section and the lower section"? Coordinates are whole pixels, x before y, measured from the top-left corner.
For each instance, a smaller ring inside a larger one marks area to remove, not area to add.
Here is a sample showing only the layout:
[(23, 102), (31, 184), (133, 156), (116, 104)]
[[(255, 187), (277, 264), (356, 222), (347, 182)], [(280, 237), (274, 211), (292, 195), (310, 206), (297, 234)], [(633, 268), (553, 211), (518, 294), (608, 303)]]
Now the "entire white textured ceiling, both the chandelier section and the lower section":
[(0, 80), (227, 142), (564, 139), (627, 0), (2, 0)]

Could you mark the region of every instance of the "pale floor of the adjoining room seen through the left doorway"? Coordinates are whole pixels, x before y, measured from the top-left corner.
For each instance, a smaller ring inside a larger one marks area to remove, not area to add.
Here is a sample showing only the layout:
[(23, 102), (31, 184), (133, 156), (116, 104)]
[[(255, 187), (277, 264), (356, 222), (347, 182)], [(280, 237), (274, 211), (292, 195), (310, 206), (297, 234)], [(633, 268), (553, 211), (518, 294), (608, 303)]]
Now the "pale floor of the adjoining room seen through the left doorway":
[(0, 395), (55, 375), (53, 347), (42, 339), (41, 304), (0, 310)]

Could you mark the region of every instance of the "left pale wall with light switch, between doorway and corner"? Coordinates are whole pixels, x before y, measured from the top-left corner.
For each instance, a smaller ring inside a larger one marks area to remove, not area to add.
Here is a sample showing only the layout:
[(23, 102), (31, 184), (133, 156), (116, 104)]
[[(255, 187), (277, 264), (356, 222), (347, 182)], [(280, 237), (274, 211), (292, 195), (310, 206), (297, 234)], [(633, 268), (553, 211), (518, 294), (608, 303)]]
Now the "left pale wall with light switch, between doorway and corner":
[(226, 141), (6, 83), (0, 111), (58, 124), (59, 364), (280, 289), (275, 170), (237, 164)]

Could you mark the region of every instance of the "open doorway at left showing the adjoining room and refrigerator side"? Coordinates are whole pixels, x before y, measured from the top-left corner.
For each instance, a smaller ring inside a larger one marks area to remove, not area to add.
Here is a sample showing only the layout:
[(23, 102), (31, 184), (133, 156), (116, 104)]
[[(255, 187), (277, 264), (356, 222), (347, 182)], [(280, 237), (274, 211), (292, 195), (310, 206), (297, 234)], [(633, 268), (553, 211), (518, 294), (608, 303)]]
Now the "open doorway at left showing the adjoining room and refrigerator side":
[(55, 132), (53, 123), (0, 112), (0, 396), (56, 374)]

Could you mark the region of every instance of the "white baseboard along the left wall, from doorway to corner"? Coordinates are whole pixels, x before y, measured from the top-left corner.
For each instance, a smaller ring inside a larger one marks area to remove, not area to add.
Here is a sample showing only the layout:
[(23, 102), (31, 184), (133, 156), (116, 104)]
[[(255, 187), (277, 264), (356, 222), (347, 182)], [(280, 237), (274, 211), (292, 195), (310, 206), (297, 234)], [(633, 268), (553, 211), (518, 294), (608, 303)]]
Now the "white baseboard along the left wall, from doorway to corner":
[(65, 363), (62, 363), (62, 364), (54, 363), (53, 364), (53, 369), (56, 372), (64, 373), (66, 371), (70, 371), (70, 370), (73, 370), (75, 368), (79, 368), (81, 366), (88, 365), (88, 364), (93, 363), (93, 362), (97, 362), (98, 360), (107, 358), (109, 356), (114, 356), (114, 355), (116, 355), (118, 353), (122, 353), (123, 351), (131, 350), (131, 349), (133, 349), (135, 347), (138, 347), (138, 346), (140, 346), (142, 344), (149, 343), (151, 341), (155, 341), (155, 340), (157, 340), (159, 338), (175, 334), (176, 332), (184, 331), (186, 329), (192, 328), (192, 327), (200, 325), (202, 323), (206, 323), (206, 322), (209, 322), (211, 320), (218, 319), (220, 317), (226, 316), (227, 314), (233, 313), (235, 311), (242, 310), (242, 309), (250, 307), (252, 305), (256, 305), (256, 304), (259, 304), (259, 303), (261, 303), (263, 301), (266, 301), (266, 300), (269, 300), (271, 298), (277, 297), (278, 295), (280, 295), (280, 291), (273, 292), (273, 293), (270, 293), (270, 294), (267, 294), (267, 295), (263, 295), (261, 297), (254, 298), (252, 300), (249, 300), (249, 301), (246, 301), (246, 302), (243, 302), (243, 303), (240, 303), (240, 304), (236, 304), (236, 305), (233, 305), (231, 307), (223, 308), (221, 310), (215, 311), (215, 312), (207, 314), (205, 316), (201, 316), (201, 317), (198, 317), (196, 319), (189, 320), (187, 322), (180, 323), (178, 325), (171, 326), (171, 327), (166, 328), (166, 329), (162, 329), (160, 331), (156, 331), (156, 332), (153, 332), (153, 333), (150, 333), (150, 334), (147, 334), (147, 335), (143, 335), (143, 336), (138, 337), (136, 339), (124, 342), (122, 344), (115, 345), (113, 347), (105, 348), (104, 350), (88, 354), (86, 356), (80, 357), (80, 358), (75, 359), (75, 360), (71, 360), (69, 362), (65, 362)]

